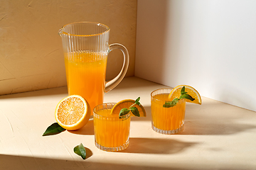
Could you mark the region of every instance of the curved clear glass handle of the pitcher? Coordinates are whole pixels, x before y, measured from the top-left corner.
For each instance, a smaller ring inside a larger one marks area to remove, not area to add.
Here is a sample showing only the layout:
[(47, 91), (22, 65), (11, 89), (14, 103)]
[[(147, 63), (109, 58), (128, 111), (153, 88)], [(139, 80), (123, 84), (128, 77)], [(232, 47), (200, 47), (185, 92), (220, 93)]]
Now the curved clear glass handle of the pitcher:
[(114, 79), (106, 82), (105, 93), (114, 89), (114, 87), (117, 86), (122, 81), (122, 79), (124, 79), (124, 76), (127, 73), (127, 69), (128, 69), (128, 65), (129, 65), (129, 53), (128, 53), (127, 48), (124, 47), (124, 45), (114, 43), (114, 44), (110, 45), (109, 52), (111, 52), (114, 49), (119, 49), (122, 51), (122, 53), (124, 55), (124, 63), (122, 65), (121, 72), (119, 72), (117, 77), (114, 77)]

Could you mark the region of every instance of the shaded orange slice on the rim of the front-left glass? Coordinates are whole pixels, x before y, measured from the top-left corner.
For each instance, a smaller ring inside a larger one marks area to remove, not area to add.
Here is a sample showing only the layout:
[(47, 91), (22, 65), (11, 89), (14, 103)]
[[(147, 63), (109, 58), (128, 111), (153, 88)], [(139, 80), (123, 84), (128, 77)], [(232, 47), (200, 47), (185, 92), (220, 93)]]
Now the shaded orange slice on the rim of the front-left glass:
[[(114, 105), (110, 114), (111, 115), (113, 115), (113, 114), (119, 115), (122, 108), (129, 108), (134, 103), (135, 103), (135, 101), (132, 99), (124, 99), (122, 101), (119, 101), (117, 104)], [(136, 104), (136, 105), (134, 105), (134, 107), (136, 107), (138, 109), (140, 117), (146, 117), (146, 111), (145, 111), (144, 107), (142, 106), (142, 104), (141, 105)], [(130, 112), (130, 113), (131, 113), (131, 116), (135, 116), (132, 114), (132, 112)]]

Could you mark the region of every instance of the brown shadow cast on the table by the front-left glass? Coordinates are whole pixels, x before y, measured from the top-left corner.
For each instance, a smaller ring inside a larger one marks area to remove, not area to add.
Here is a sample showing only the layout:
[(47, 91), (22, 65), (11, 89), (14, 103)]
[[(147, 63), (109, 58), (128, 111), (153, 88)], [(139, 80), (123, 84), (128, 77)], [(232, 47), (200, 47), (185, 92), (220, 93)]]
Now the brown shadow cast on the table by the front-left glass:
[(183, 152), (188, 147), (197, 145), (197, 142), (181, 142), (178, 140), (130, 137), (129, 147), (121, 152), (141, 154), (175, 154)]

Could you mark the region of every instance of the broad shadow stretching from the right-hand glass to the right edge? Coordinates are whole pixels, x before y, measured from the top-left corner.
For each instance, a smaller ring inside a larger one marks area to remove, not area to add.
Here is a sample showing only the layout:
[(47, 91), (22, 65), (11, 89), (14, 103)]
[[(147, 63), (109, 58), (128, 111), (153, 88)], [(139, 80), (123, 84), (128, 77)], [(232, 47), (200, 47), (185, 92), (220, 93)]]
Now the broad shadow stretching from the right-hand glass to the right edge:
[(191, 104), (186, 108), (184, 130), (179, 134), (233, 135), (255, 129), (256, 124), (252, 121), (240, 121), (254, 116), (255, 112), (220, 102), (205, 104), (203, 107)]

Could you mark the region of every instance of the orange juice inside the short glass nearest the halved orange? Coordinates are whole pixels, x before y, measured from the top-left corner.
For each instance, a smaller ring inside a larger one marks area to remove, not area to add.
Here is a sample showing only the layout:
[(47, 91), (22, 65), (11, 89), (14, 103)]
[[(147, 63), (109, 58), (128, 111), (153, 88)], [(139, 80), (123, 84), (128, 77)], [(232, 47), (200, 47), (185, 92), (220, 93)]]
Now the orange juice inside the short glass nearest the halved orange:
[(130, 119), (110, 115), (111, 109), (97, 111), (94, 116), (95, 140), (102, 147), (120, 147), (129, 141)]

